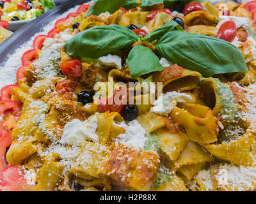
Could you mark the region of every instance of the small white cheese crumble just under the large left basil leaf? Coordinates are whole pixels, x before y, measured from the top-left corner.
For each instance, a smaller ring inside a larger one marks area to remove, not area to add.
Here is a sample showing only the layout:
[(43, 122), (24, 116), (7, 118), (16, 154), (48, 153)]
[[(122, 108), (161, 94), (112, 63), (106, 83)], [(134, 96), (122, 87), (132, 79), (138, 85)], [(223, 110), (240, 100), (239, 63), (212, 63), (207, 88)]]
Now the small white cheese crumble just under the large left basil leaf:
[(99, 67), (122, 69), (122, 59), (118, 55), (107, 55), (98, 59)]

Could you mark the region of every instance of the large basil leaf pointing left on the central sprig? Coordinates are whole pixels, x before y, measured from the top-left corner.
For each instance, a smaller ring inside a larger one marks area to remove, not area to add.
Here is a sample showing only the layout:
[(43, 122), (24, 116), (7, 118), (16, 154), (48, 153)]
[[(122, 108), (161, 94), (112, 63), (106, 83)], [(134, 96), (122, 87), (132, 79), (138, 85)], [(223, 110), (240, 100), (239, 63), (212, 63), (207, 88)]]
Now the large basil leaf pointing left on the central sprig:
[(100, 25), (77, 34), (63, 48), (68, 55), (95, 59), (131, 47), (140, 38), (121, 25)]

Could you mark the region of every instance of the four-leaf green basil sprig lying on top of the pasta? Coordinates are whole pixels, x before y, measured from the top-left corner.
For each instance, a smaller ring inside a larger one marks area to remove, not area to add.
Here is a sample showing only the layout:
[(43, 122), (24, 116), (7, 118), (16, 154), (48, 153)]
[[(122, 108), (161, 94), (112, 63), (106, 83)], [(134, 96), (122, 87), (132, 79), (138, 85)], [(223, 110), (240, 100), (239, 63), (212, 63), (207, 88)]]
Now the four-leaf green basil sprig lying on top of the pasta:
[[(181, 29), (176, 22), (168, 22), (142, 38), (121, 25), (101, 25), (77, 34), (63, 47), (68, 55), (96, 59), (122, 48), (132, 48), (137, 41), (154, 41), (161, 57), (198, 71), (204, 77), (248, 71), (243, 55), (231, 43), (204, 34), (173, 31), (174, 27)], [(127, 64), (132, 78), (164, 69), (157, 55), (141, 45), (132, 48)]]

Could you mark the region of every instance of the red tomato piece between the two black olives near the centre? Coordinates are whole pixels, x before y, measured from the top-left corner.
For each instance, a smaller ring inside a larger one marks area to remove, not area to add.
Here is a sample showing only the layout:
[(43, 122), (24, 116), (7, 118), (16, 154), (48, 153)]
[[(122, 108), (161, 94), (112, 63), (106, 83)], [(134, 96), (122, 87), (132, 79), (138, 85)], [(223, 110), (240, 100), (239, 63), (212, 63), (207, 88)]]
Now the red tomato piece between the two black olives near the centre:
[[(100, 112), (118, 112), (122, 114), (129, 101), (127, 89), (119, 89), (109, 98), (101, 98), (98, 102)], [(117, 101), (118, 100), (118, 101)], [(124, 101), (124, 103), (123, 103)], [(117, 103), (119, 102), (119, 103)]]

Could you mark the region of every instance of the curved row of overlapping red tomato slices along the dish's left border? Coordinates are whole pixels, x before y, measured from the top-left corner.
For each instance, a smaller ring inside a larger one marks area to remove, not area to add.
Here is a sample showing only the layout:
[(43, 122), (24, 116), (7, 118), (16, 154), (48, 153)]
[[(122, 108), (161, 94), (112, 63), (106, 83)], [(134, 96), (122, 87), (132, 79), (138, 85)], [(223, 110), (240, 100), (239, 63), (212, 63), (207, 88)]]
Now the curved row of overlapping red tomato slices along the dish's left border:
[[(91, 4), (79, 6), (76, 13), (70, 13), (67, 15), (67, 18), (57, 20), (54, 28), (47, 35), (36, 36), (33, 41), (33, 50), (28, 50), (21, 57), (22, 66), (17, 69), (17, 82), (25, 77), (26, 68), (28, 68), (29, 64), (38, 58), (38, 50), (42, 49), (45, 39), (54, 38), (59, 33), (58, 25), (65, 22), (68, 18), (77, 17), (82, 12), (86, 12), (90, 6)], [(0, 26), (7, 28), (8, 22), (0, 20)], [(8, 165), (5, 159), (6, 150), (12, 144), (12, 129), (19, 120), (22, 111), (22, 105), (19, 101), (12, 100), (12, 89), (17, 87), (19, 87), (19, 84), (6, 85), (0, 91), (0, 117), (3, 117), (2, 122), (0, 120), (0, 191), (33, 190), (33, 187), (28, 184), (25, 178), (25, 172), (18, 166)]]

